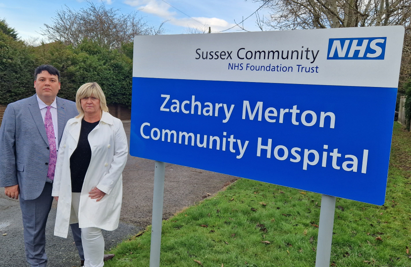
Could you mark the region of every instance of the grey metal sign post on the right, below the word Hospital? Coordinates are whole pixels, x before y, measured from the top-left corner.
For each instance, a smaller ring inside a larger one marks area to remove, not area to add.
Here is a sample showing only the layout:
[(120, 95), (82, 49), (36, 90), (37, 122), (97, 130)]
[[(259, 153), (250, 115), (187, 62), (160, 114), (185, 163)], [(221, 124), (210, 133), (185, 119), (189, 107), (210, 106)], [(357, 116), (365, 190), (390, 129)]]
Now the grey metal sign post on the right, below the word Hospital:
[(321, 195), (320, 222), (318, 224), (315, 267), (329, 267), (336, 197)]

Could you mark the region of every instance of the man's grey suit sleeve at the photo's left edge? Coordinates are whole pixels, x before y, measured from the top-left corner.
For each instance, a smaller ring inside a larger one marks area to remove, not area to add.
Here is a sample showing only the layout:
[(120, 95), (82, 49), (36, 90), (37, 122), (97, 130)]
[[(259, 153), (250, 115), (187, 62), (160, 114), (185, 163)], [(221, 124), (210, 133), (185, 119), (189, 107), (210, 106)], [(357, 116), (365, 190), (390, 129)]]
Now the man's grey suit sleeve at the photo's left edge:
[(11, 104), (4, 111), (0, 126), (0, 186), (18, 184), (16, 171), (16, 116)]

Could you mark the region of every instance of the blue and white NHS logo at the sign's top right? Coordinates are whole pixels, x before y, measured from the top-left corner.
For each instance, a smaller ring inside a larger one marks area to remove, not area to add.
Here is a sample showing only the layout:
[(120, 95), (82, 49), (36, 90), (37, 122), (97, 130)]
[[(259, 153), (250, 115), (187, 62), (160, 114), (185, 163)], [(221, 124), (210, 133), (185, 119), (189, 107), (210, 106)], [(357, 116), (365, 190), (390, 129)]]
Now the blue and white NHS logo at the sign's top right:
[(327, 59), (384, 59), (386, 37), (329, 39)]

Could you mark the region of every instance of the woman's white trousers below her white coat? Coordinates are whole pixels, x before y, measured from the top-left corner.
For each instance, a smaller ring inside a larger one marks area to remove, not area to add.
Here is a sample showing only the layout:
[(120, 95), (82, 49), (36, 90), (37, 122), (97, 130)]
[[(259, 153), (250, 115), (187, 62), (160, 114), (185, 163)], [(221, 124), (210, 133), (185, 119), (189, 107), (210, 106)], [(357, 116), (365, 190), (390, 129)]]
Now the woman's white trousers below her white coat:
[[(80, 193), (71, 193), (71, 212), (77, 217)], [(81, 228), (81, 242), (84, 250), (85, 267), (103, 267), (104, 238), (102, 229), (97, 227)]]

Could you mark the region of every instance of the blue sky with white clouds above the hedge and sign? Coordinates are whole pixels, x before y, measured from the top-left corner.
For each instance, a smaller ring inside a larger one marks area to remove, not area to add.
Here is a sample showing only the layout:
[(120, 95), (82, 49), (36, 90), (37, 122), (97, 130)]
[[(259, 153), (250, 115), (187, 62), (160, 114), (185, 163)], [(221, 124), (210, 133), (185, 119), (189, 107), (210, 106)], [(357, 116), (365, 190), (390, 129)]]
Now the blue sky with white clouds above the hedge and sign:
[[(211, 32), (227, 30), (253, 14), (261, 5), (253, 0), (92, 0), (103, 2), (106, 8), (119, 9), (123, 14), (138, 11), (139, 15), (153, 26), (162, 21), (165, 34), (184, 34), (190, 28), (211, 27)], [(69, 7), (79, 10), (87, 7), (85, 0), (0, 0), (0, 19), (16, 29), (23, 40), (42, 39), (44, 24), (52, 24), (56, 11)], [(261, 16), (268, 16), (261, 8)], [(247, 31), (259, 31), (256, 15), (242, 24)], [(238, 26), (226, 32), (242, 31)]]

